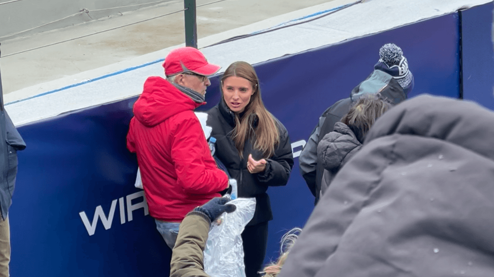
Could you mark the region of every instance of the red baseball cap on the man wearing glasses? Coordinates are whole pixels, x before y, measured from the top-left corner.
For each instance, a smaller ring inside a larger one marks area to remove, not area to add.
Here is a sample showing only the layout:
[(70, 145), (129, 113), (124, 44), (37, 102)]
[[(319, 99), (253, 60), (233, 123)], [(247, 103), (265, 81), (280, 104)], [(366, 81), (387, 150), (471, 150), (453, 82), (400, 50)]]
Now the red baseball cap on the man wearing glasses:
[(171, 76), (185, 71), (209, 76), (221, 69), (220, 66), (209, 64), (206, 57), (194, 47), (180, 47), (171, 50), (163, 63), (165, 75)]

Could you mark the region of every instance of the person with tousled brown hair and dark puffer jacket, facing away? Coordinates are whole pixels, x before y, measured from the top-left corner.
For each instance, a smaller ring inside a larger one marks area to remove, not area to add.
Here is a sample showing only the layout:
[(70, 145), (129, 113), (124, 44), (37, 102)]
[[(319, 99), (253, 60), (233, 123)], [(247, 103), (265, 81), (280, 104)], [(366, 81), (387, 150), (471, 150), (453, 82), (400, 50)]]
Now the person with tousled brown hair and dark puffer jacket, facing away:
[(363, 95), (340, 122), (317, 146), (318, 160), (324, 166), (321, 181), (322, 196), (328, 189), (334, 175), (362, 147), (367, 133), (375, 120), (391, 107), (380, 94)]

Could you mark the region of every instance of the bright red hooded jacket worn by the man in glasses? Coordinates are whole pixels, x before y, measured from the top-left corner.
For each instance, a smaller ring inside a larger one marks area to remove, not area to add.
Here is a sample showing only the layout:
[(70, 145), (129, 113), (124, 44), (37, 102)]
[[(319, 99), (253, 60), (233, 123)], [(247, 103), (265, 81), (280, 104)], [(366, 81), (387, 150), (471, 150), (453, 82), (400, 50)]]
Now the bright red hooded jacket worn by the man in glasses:
[(137, 153), (149, 213), (181, 222), (228, 187), (211, 157), (195, 103), (161, 77), (149, 77), (134, 104), (127, 148)]

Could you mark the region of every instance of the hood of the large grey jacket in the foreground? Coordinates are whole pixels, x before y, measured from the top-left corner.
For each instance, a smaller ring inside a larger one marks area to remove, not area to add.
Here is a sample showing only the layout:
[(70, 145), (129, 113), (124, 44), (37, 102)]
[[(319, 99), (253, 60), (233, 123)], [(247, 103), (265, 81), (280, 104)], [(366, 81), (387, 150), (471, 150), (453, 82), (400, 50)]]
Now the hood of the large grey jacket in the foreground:
[(494, 112), (469, 101), (420, 95), (384, 113), (365, 143), (393, 134), (445, 140), (494, 160)]

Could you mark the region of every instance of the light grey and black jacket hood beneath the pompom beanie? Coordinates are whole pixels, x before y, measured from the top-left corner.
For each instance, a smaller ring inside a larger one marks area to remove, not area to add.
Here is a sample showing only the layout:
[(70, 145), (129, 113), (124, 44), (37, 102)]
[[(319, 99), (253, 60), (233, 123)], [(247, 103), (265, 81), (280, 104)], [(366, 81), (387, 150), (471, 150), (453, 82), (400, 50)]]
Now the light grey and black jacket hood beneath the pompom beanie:
[(350, 98), (354, 102), (360, 96), (369, 93), (380, 93), (392, 104), (398, 104), (407, 99), (407, 94), (405, 94), (398, 81), (390, 74), (378, 69), (372, 71), (367, 79), (352, 90)]

